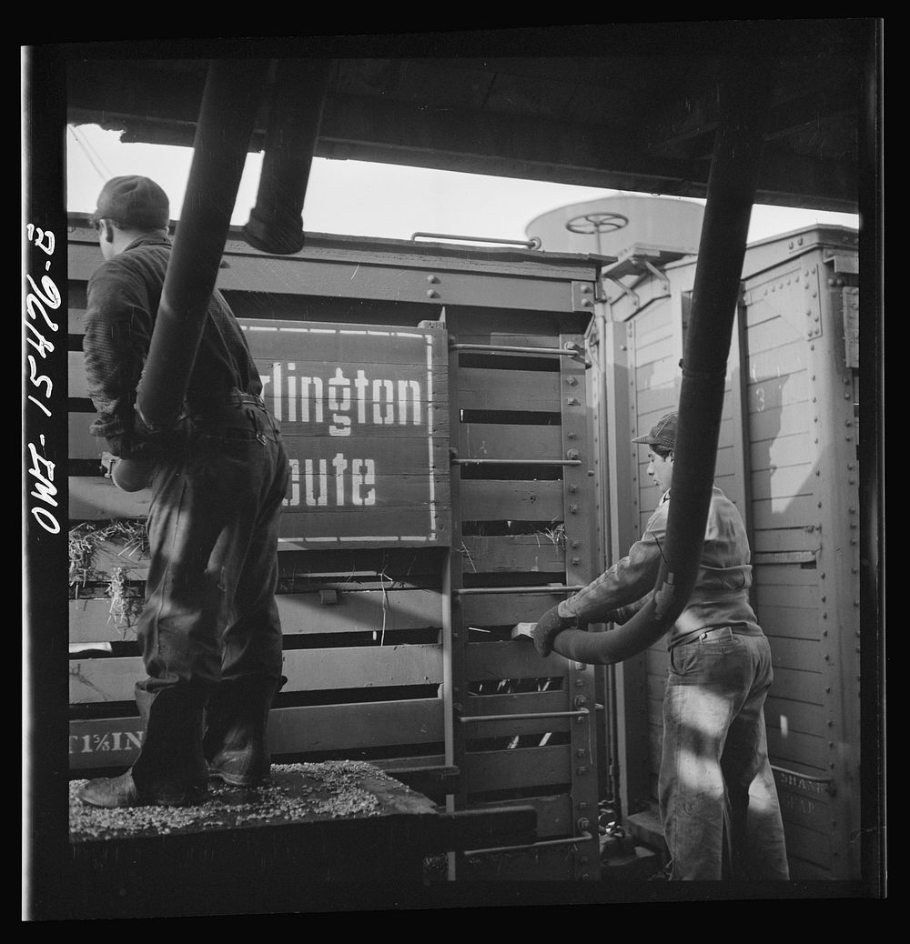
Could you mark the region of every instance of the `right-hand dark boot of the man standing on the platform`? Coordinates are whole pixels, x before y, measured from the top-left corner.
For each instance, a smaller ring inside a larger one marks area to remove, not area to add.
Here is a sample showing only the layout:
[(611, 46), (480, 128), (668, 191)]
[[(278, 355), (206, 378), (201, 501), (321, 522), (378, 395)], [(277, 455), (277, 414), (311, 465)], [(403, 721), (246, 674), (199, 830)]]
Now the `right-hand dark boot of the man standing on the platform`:
[(222, 682), (209, 700), (203, 751), (209, 776), (233, 786), (257, 786), (268, 779), (268, 712), (287, 682), (247, 676)]

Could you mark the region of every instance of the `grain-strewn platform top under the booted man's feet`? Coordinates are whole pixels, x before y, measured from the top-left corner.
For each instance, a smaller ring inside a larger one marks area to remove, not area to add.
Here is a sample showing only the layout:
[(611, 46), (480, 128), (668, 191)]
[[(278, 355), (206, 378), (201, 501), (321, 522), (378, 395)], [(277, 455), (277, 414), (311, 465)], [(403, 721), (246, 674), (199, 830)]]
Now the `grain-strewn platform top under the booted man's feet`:
[(196, 806), (136, 806), (101, 809), (77, 799), (84, 780), (70, 782), (70, 838), (114, 838), (196, 832), (231, 826), (305, 819), (377, 817), (382, 804), (364, 781), (407, 790), (363, 761), (272, 765), (272, 780), (256, 788), (212, 781)]

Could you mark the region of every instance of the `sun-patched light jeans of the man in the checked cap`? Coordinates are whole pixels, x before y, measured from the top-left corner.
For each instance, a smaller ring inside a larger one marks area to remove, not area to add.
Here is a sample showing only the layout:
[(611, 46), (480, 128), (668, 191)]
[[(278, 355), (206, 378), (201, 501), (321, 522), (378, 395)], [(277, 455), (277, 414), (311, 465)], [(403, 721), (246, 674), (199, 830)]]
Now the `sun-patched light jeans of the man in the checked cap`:
[(670, 652), (659, 793), (673, 879), (789, 878), (768, 761), (764, 635), (715, 631)]

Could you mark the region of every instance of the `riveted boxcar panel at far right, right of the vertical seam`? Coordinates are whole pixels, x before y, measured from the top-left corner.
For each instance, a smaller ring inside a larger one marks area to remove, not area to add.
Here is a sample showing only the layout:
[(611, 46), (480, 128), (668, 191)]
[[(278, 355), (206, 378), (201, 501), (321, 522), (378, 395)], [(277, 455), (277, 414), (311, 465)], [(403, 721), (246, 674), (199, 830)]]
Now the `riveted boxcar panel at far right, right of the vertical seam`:
[(745, 293), (755, 599), (774, 656), (766, 719), (791, 868), (848, 879), (859, 845), (858, 467), (845, 317), (855, 265), (850, 249), (816, 240), (794, 249), (766, 260)]

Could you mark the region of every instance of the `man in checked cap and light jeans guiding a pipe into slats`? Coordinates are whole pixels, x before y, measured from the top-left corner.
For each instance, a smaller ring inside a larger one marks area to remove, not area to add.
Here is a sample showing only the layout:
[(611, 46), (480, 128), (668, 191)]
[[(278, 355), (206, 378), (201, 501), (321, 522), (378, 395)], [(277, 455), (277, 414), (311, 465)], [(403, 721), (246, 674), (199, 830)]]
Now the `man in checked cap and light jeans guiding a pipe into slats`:
[[(678, 413), (667, 413), (632, 440), (648, 447), (647, 474), (658, 486), (657, 508), (626, 557), (541, 617), (533, 631), (541, 656), (555, 649), (591, 661), (574, 651), (587, 626), (625, 623), (653, 596), (666, 540), (678, 419)], [(749, 559), (742, 516), (714, 485), (695, 588), (667, 634), (670, 667), (658, 794), (672, 879), (789, 876), (764, 726), (771, 652), (749, 603)]]

